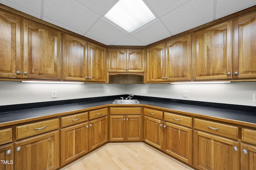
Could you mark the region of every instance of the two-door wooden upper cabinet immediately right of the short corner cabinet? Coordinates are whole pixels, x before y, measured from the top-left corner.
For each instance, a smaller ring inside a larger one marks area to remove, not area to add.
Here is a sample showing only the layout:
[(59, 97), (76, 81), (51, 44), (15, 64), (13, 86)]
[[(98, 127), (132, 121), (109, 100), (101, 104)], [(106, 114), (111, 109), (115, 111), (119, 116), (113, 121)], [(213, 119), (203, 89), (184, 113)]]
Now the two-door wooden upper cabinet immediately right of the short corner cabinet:
[(191, 35), (183, 35), (147, 49), (147, 82), (191, 79)]

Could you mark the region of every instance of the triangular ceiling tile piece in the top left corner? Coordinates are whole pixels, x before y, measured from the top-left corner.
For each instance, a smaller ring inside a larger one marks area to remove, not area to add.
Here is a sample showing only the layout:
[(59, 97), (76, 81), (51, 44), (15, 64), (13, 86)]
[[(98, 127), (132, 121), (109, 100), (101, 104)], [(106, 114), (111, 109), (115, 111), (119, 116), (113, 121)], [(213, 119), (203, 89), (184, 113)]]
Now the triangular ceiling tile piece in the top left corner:
[(0, 0), (4, 4), (36, 18), (41, 16), (41, 0)]

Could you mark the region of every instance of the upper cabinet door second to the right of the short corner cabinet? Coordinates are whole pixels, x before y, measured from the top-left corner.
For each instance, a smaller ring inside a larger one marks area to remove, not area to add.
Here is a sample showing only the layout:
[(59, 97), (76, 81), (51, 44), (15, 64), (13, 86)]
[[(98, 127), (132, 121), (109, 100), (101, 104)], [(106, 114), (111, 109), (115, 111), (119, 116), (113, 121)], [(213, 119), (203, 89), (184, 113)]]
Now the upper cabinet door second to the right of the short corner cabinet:
[(191, 35), (166, 42), (165, 81), (191, 80)]

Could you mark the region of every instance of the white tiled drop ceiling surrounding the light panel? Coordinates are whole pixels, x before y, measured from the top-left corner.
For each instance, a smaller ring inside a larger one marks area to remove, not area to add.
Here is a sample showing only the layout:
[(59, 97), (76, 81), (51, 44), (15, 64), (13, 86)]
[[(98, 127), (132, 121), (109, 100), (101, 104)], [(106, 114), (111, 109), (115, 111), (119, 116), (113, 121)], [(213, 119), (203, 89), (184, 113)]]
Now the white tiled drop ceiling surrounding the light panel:
[(143, 1), (156, 19), (131, 33), (104, 17), (118, 0), (0, 0), (0, 3), (105, 45), (136, 46), (149, 45), (256, 5), (256, 0)]

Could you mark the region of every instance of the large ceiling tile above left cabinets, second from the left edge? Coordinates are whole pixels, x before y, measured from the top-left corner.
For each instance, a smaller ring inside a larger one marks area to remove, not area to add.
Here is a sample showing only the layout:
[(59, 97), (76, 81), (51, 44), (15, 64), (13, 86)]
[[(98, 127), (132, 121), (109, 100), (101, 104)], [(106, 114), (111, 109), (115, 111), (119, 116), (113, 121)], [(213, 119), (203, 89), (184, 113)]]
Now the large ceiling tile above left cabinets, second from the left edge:
[(44, 0), (44, 16), (47, 20), (58, 21), (84, 33), (100, 17), (76, 0)]

